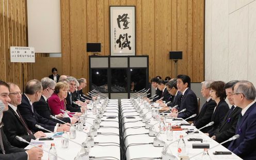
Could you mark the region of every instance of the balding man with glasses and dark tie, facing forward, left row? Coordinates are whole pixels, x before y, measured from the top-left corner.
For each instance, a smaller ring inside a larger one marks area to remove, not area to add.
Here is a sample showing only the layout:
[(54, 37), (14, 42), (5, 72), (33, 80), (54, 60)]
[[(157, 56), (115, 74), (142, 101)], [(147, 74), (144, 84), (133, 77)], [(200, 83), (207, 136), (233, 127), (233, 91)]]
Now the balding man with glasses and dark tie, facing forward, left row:
[(25, 148), (28, 144), (23, 143), (15, 138), (20, 136), (23, 139), (30, 141), (39, 137), (45, 137), (46, 135), (39, 131), (33, 134), (27, 127), (26, 122), (22, 118), (17, 106), (21, 104), (21, 90), (18, 85), (14, 83), (8, 83), (10, 86), (9, 97), (11, 101), (8, 104), (8, 111), (5, 111), (3, 116), (4, 132), (7, 136), (8, 141), (12, 146)]

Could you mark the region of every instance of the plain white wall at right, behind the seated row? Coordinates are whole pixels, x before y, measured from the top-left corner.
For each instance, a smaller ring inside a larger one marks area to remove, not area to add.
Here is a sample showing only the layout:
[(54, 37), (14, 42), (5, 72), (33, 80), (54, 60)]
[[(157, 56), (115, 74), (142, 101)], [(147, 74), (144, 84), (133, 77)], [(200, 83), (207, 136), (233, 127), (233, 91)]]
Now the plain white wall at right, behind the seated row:
[(205, 0), (205, 79), (256, 86), (256, 0)]

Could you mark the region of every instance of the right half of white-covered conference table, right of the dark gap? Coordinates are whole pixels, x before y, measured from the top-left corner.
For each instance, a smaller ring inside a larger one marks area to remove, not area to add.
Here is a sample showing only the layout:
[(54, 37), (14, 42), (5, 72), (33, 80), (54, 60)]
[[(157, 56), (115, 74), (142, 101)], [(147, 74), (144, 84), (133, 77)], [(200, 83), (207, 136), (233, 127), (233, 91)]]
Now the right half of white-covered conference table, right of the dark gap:
[[(145, 123), (142, 122), (142, 117), (139, 117), (139, 113), (135, 109), (134, 104), (131, 102), (131, 99), (121, 99), (121, 113), (123, 116), (123, 136), (125, 137), (125, 147), (126, 147), (126, 159), (127, 160), (135, 160), (135, 159), (160, 159), (162, 157), (162, 151), (164, 147), (154, 147), (154, 137), (149, 136), (149, 129), (145, 128)], [(142, 112), (146, 114), (146, 119), (149, 119), (152, 117), (152, 112), (147, 109), (145, 104), (143, 102), (138, 103), (140, 105), (140, 109), (142, 109)], [(134, 117), (134, 118), (131, 118)], [(167, 123), (178, 123), (179, 121), (173, 120), (172, 118), (166, 119)], [(184, 121), (180, 121), (184, 123)], [(186, 122), (186, 121), (185, 121)], [(150, 124), (154, 125), (157, 123), (157, 121), (154, 118), (150, 119)], [(188, 122), (186, 122), (188, 123)], [(155, 132), (158, 132), (158, 124), (155, 125)], [(194, 126), (182, 126), (184, 130), (186, 129), (194, 129)], [(209, 136), (206, 136), (204, 133), (199, 131), (199, 133), (192, 133), (186, 136), (187, 134), (185, 131), (173, 131), (173, 141), (177, 140), (175, 142), (166, 140), (166, 134), (158, 134), (158, 139), (161, 139), (165, 141), (165, 145), (167, 146), (170, 143), (173, 143), (169, 146), (167, 149), (168, 152), (171, 152), (175, 157), (178, 158), (178, 139), (180, 135), (184, 136), (185, 144), (186, 144), (186, 154), (189, 157), (192, 157), (200, 152), (203, 152), (203, 149), (194, 149), (192, 148), (192, 144), (201, 144), (200, 141), (188, 141), (189, 138), (202, 138), (203, 144), (210, 144), (210, 148), (218, 145), (218, 143), (210, 138)], [(185, 137), (186, 136), (186, 137)], [(150, 143), (150, 144), (149, 144)], [(129, 147), (127, 147), (129, 146)], [(211, 159), (241, 159), (234, 153), (232, 155), (213, 155), (213, 152), (215, 151), (229, 151), (227, 148), (219, 145), (216, 148), (210, 149), (209, 155)], [(198, 156), (193, 157), (192, 159), (202, 159), (202, 153)], [(191, 159), (191, 158), (190, 158)], [(202, 159), (203, 160), (203, 159)]]

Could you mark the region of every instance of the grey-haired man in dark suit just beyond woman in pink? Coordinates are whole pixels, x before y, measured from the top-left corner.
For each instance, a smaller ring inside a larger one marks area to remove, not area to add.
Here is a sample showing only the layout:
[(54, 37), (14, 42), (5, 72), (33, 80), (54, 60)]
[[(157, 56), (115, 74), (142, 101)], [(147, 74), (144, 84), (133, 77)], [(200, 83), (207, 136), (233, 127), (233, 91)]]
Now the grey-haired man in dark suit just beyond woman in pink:
[[(76, 79), (74, 77), (68, 77), (67, 80), (69, 81), (69, 92), (68, 92), (67, 98), (65, 98), (67, 110), (70, 111), (70, 112), (82, 112), (82, 111), (84, 111), (85, 103), (81, 103), (81, 102), (76, 101), (76, 99), (74, 99), (74, 97), (72, 96), (72, 93), (75, 92)], [(79, 105), (77, 105), (77, 104), (79, 104)]]

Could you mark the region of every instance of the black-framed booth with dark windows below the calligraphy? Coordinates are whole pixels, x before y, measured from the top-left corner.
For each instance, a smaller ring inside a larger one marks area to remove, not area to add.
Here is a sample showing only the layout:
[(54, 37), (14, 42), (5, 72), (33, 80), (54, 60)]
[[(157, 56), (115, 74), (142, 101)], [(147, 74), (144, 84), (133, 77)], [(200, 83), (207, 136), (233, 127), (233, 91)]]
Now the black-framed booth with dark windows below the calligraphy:
[(148, 88), (148, 56), (89, 56), (89, 90), (128, 94)]

